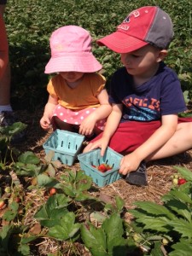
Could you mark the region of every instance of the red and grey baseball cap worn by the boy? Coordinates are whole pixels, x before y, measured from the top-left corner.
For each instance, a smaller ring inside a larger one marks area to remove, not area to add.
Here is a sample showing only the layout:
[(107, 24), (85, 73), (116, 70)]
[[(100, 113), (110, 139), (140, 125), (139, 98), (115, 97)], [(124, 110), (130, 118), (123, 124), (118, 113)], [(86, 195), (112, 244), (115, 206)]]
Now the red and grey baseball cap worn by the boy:
[(173, 37), (172, 20), (156, 6), (133, 10), (117, 27), (117, 31), (97, 41), (118, 53), (128, 53), (152, 44), (166, 49)]

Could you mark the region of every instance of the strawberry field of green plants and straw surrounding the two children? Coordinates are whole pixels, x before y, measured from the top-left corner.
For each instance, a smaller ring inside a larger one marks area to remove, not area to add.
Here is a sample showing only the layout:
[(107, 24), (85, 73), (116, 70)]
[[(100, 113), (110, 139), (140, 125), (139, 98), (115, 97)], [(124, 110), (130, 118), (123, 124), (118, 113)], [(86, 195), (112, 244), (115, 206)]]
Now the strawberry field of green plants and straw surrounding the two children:
[[(80, 169), (52, 160), (40, 128), (47, 101), (49, 36), (56, 28), (83, 26), (109, 80), (119, 55), (96, 39), (113, 32), (132, 10), (159, 5), (172, 17), (175, 38), (166, 63), (175, 69), (191, 106), (191, 8), (189, 1), (9, 0), (5, 20), (12, 69), (11, 100), (20, 123), (0, 128), (0, 255), (154, 255), (192, 253), (192, 151), (150, 162), (148, 186), (124, 179), (96, 186)], [(108, 84), (107, 84), (108, 85)], [(26, 131), (26, 140), (11, 137)], [(98, 166), (96, 166), (98, 168)], [(110, 171), (108, 171), (110, 172)]]

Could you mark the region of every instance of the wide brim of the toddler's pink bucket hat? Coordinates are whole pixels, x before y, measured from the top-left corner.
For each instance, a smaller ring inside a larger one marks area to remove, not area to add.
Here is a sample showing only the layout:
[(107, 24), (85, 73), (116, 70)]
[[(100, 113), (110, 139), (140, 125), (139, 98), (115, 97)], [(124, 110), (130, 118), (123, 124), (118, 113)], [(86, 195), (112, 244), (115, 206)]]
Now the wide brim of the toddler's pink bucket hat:
[(94, 73), (102, 69), (102, 65), (91, 53), (78, 55), (63, 55), (51, 57), (44, 73), (81, 72)]

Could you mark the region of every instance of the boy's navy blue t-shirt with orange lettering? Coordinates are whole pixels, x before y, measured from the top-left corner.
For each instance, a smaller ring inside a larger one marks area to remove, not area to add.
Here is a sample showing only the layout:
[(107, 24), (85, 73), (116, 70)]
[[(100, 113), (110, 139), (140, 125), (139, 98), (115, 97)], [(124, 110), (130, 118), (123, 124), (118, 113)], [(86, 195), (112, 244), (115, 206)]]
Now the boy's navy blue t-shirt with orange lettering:
[(177, 74), (163, 62), (154, 77), (139, 86), (134, 86), (125, 67), (119, 68), (111, 80), (109, 102), (123, 104), (121, 122), (160, 120), (187, 109)]

